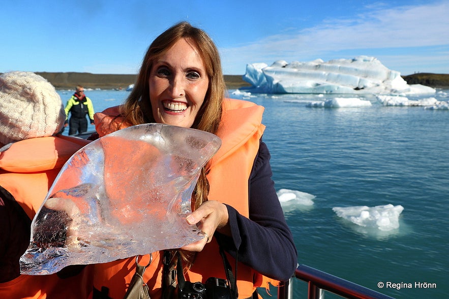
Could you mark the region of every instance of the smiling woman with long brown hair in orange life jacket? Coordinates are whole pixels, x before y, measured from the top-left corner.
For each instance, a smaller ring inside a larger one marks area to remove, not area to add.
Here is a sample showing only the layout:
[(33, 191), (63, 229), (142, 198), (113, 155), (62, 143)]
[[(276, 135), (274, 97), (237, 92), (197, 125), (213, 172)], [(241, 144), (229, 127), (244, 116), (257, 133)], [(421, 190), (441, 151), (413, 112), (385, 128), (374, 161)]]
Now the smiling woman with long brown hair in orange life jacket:
[[(209, 277), (226, 278), (219, 252), (224, 249), (236, 272), (238, 297), (248, 298), (267, 282), (288, 280), (297, 253), (271, 179), (270, 153), (261, 140), (263, 107), (226, 99), (225, 88), (215, 44), (203, 30), (181, 22), (149, 46), (125, 104), (94, 117), (100, 137), (131, 125), (165, 123), (222, 139), (201, 171), (192, 194), (193, 212), (186, 218), (204, 238), (177, 250), (186, 280), (204, 283)], [(153, 252), (143, 275), (153, 299), (167, 289), (165, 253)], [(175, 267), (176, 256), (169, 255), (169, 269)], [(145, 255), (139, 263), (148, 260)], [(96, 264), (94, 298), (123, 298), (135, 264), (135, 257)]]

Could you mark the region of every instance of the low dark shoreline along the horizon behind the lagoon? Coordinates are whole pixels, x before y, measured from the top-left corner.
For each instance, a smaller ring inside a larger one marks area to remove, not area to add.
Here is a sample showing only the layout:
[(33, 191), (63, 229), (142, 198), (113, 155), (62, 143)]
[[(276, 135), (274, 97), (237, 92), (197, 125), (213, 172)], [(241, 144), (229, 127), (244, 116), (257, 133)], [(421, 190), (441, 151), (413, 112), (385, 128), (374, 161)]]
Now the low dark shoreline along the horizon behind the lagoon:
[[(92, 73), (49, 73), (36, 72), (47, 79), (56, 89), (75, 89), (76, 85), (85, 88), (126, 89), (134, 84), (137, 75), (129, 74), (92, 74)], [(224, 75), (226, 87), (237, 89), (250, 87), (251, 84), (243, 80), (243, 75)], [(449, 74), (418, 73), (402, 76), (408, 84), (422, 84), (434, 88), (449, 88)]]

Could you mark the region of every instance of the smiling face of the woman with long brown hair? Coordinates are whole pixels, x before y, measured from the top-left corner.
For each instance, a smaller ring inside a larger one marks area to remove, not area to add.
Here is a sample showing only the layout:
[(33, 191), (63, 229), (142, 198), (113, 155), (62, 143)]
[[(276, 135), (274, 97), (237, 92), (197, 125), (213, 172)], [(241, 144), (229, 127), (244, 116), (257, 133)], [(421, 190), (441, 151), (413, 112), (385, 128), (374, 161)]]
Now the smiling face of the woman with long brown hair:
[(177, 41), (154, 61), (148, 81), (156, 122), (191, 127), (209, 86), (204, 63), (193, 43)]

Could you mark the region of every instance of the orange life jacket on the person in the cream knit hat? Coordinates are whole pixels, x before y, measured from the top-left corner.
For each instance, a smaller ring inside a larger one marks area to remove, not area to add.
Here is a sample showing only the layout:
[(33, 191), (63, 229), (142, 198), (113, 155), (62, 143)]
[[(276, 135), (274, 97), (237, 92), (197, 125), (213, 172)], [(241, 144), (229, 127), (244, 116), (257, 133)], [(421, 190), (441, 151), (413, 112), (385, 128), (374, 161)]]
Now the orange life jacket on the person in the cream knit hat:
[[(64, 163), (89, 141), (58, 135), (13, 143), (0, 152), (0, 186), (14, 196), (33, 219)], [(69, 278), (52, 275), (20, 275), (0, 283), (0, 298), (89, 298), (92, 272), (87, 266)]]

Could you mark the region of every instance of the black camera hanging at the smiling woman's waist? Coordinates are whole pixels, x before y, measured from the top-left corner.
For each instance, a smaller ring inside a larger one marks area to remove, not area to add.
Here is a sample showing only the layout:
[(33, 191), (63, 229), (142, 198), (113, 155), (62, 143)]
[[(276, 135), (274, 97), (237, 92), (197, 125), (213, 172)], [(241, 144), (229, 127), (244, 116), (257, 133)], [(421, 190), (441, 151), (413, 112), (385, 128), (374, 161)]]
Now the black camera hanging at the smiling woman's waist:
[(179, 299), (232, 299), (231, 288), (226, 279), (211, 277), (205, 284), (201, 282), (186, 281), (184, 286), (179, 286)]

